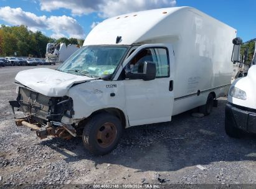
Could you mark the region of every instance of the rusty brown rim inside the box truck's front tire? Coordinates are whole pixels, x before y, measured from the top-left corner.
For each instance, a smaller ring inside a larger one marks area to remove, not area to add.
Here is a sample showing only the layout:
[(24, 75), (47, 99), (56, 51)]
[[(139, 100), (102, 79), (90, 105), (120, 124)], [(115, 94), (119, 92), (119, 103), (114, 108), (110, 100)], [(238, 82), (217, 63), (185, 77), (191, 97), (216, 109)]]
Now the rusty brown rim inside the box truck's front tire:
[(97, 142), (100, 147), (109, 147), (116, 139), (116, 126), (111, 122), (106, 122), (97, 131)]

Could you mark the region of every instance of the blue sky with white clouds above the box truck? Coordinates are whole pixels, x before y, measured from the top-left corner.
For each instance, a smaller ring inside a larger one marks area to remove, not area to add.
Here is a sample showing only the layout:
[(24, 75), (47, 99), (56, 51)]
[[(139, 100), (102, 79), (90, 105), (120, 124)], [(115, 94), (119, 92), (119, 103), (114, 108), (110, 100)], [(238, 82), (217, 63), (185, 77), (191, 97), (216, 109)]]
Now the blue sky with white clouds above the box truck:
[(27, 25), (55, 39), (85, 39), (108, 17), (173, 6), (195, 7), (237, 29), (244, 41), (256, 38), (256, 0), (0, 0), (0, 25)]

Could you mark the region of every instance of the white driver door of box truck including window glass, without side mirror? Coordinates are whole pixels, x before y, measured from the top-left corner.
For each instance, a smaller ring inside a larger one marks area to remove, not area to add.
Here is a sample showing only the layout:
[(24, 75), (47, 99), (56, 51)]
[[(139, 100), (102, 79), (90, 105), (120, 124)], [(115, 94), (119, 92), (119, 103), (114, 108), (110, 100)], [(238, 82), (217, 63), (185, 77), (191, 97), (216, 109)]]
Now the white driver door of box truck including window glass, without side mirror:
[(124, 62), (123, 67), (131, 73), (138, 73), (143, 62), (156, 64), (156, 78), (123, 81), (125, 87), (126, 113), (130, 126), (171, 121), (173, 111), (173, 74), (171, 74), (169, 52), (172, 47), (162, 44), (141, 45)]

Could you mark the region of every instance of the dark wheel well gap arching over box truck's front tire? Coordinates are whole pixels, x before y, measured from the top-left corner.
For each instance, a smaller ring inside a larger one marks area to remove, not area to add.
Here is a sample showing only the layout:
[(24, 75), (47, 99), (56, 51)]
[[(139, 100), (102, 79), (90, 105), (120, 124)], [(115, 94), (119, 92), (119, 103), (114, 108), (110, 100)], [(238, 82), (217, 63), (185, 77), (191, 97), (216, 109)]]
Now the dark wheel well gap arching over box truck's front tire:
[(125, 119), (125, 114), (123, 113), (123, 111), (121, 111), (118, 108), (105, 108), (105, 109), (99, 109), (97, 111), (95, 111), (94, 113), (92, 113), (88, 118), (83, 119), (82, 121), (79, 122), (78, 125), (80, 126), (85, 126), (85, 124), (87, 124), (87, 122), (96, 114), (100, 114), (100, 113), (110, 113), (112, 115), (115, 115), (117, 118), (120, 119), (121, 124), (123, 126), (123, 128), (125, 129), (126, 127), (126, 119)]

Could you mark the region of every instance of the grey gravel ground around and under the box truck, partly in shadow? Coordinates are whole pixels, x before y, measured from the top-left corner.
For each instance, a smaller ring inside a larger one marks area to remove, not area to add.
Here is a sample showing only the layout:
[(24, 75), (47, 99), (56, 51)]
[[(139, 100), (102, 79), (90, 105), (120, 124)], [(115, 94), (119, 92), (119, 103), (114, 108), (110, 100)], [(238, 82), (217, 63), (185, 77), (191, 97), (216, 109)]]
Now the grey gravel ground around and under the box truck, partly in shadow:
[(80, 138), (40, 140), (28, 128), (15, 126), (8, 101), (16, 98), (14, 76), (28, 68), (34, 67), (0, 68), (0, 188), (56, 183), (256, 184), (256, 137), (226, 136), (225, 98), (204, 118), (186, 112), (171, 122), (126, 129), (117, 149), (97, 157), (83, 148)]

